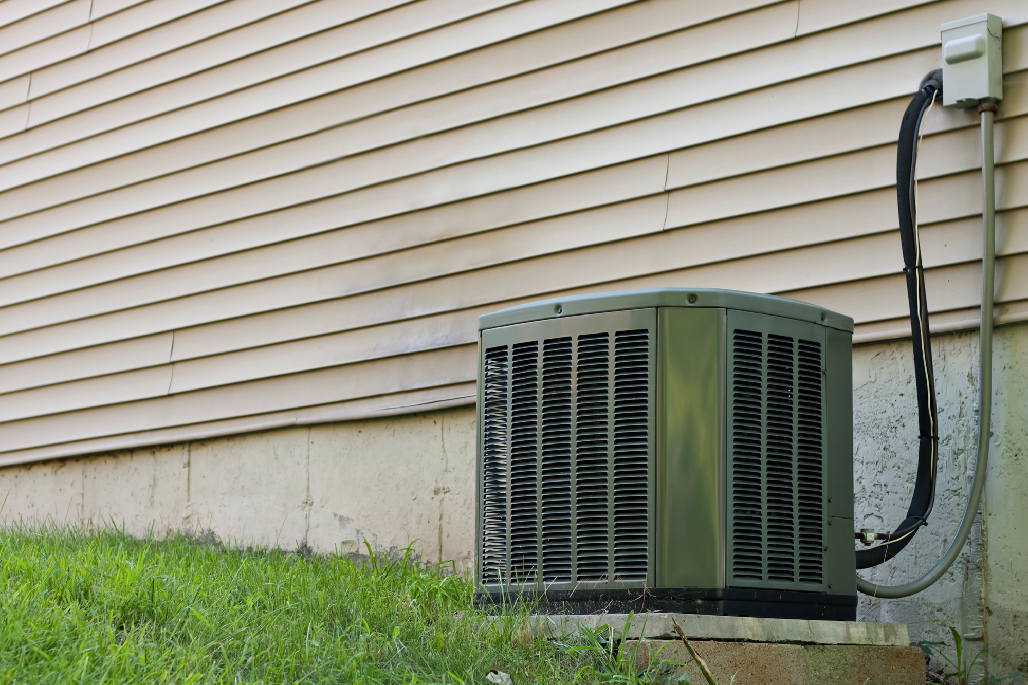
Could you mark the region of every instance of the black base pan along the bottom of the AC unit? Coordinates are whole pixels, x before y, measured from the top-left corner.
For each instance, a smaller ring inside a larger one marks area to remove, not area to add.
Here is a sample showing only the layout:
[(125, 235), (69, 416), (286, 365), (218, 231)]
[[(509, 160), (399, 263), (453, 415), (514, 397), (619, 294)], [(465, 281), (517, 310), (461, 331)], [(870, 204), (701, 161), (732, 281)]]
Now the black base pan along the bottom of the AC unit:
[(809, 620), (856, 620), (856, 596), (742, 587), (658, 587), (475, 593), (486, 612), (529, 603), (537, 614), (625, 614), (630, 611), (761, 616)]

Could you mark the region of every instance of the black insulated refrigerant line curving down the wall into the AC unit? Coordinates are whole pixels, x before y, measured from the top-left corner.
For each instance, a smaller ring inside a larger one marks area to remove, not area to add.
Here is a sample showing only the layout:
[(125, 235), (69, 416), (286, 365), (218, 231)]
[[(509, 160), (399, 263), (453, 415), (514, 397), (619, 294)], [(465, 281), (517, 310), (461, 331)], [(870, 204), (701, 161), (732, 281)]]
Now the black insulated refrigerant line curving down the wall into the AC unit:
[[(921, 88), (907, 106), (900, 125), (896, 150), (896, 200), (900, 208), (900, 241), (903, 244), (907, 297), (910, 300), (910, 330), (914, 344), (914, 377), (917, 383), (917, 420), (920, 445), (917, 479), (907, 517), (892, 533), (879, 535), (881, 542), (856, 550), (856, 568), (878, 566), (906, 547), (917, 531), (927, 522), (935, 500), (935, 471), (939, 464), (939, 406), (935, 401), (935, 377), (931, 364), (931, 339), (928, 335), (928, 304), (924, 294), (924, 266), (917, 229), (917, 148), (921, 121), (935, 101), (943, 99), (943, 72), (935, 69), (921, 81)], [(860, 537), (857, 534), (857, 537)]]

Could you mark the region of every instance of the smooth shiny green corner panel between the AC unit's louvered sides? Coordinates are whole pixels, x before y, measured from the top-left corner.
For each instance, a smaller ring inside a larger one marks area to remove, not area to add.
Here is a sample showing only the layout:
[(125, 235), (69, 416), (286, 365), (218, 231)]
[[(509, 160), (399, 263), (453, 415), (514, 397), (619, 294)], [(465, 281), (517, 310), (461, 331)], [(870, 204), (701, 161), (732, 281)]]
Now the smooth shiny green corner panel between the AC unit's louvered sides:
[(726, 311), (658, 312), (656, 586), (724, 587)]

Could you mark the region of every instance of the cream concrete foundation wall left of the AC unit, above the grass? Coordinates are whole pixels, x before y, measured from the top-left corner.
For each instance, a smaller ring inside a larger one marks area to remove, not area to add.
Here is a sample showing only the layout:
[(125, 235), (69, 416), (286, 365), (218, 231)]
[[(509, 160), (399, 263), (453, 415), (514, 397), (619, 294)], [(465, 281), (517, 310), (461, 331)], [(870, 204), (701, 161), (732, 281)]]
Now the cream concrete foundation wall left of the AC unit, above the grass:
[[(0, 517), (471, 564), (472, 407), (0, 469)], [(4, 500), (6, 498), (6, 500)]]

